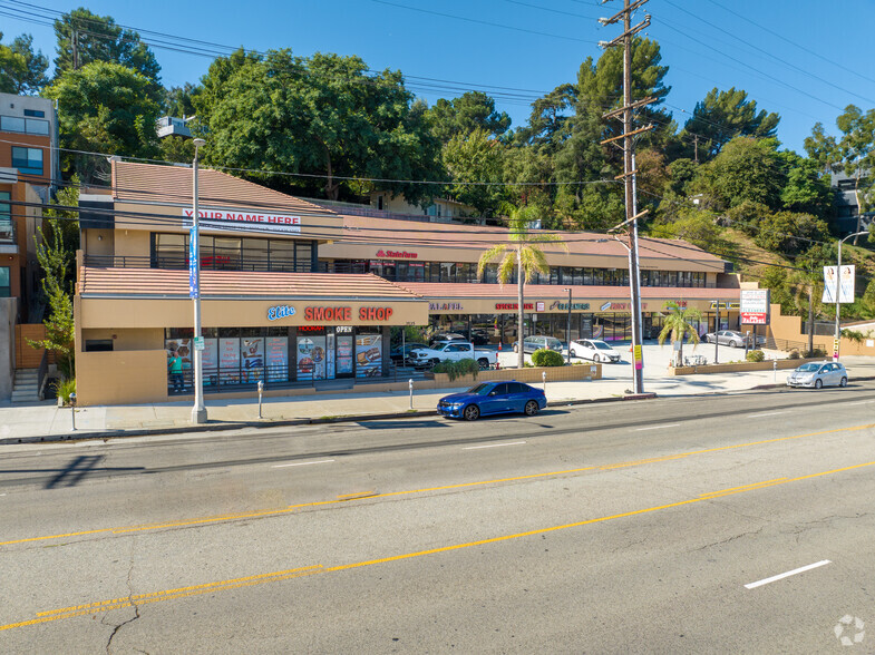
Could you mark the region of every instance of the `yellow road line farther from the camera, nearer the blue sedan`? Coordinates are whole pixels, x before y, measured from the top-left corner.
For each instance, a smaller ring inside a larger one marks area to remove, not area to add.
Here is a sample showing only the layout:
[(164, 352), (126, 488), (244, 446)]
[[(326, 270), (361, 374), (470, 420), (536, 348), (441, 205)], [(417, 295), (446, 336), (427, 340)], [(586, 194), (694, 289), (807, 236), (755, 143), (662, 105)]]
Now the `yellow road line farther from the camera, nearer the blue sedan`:
[(628, 467), (636, 467), (636, 466), (644, 466), (649, 463), (658, 463), (664, 461), (677, 461), (684, 459), (687, 457), (691, 457), (694, 454), (707, 454), (711, 452), (721, 452), (725, 450), (735, 450), (738, 448), (747, 448), (750, 446), (764, 446), (766, 443), (779, 443), (781, 441), (791, 441), (795, 439), (805, 439), (807, 437), (819, 437), (823, 434), (834, 434), (837, 432), (850, 432), (856, 430), (867, 430), (871, 428), (875, 428), (875, 423), (867, 423), (865, 426), (854, 426), (852, 428), (836, 428), (833, 430), (821, 430), (819, 432), (808, 432), (806, 434), (795, 434), (793, 437), (778, 437), (775, 439), (764, 439), (761, 441), (748, 441), (746, 443), (737, 443), (735, 446), (721, 446), (719, 448), (707, 448), (703, 450), (692, 450), (689, 452), (680, 452), (677, 454), (668, 454), (664, 457), (651, 458), (651, 459), (642, 459), (642, 460), (633, 460), (633, 461), (624, 461), (624, 462), (616, 462), (616, 463), (607, 463), (601, 466), (592, 466), (592, 467), (582, 467), (577, 469), (566, 469), (563, 471), (550, 471), (545, 473), (532, 473), (528, 476), (515, 476), (511, 478), (496, 478), (493, 480), (479, 480), (474, 482), (460, 482), (458, 485), (445, 485), (441, 487), (428, 487), (425, 489), (408, 489), (402, 491), (387, 491), (386, 493), (376, 493), (376, 492), (360, 492), (360, 493), (350, 493), (344, 496), (339, 496), (334, 500), (317, 500), (313, 502), (302, 502), (299, 505), (289, 505), (288, 507), (283, 507), (280, 509), (262, 509), (255, 511), (246, 511), (246, 512), (239, 512), (239, 514), (224, 514), (224, 515), (216, 515), (216, 516), (207, 516), (207, 517), (196, 517), (191, 519), (181, 519), (176, 521), (166, 521), (166, 522), (158, 522), (158, 524), (146, 524), (146, 525), (138, 525), (138, 526), (126, 526), (126, 527), (118, 527), (118, 528), (98, 528), (94, 530), (79, 530), (76, 532), (64, 532), (60, 535), (42, 535), (39, 537), (25, 537), (21, 539), (10, 539), (8, 541), (0, 541), (0, 546), (11, 546), (13, 544), (27, 544), (32, 541), (48, 541), (51, 539), (65, 539), (68, 537), (84, 537), (88, 535), (125, 535), (130, 532), (145, 532), (149, 530), (161, 530), (166, 528), (179, 528), (179, 527), (189, 527), (189, 526), (203, 526), (210, 524), (217, 524), (224, 521), (232, 521), (232, 520), (241, 520), (241, 519), (249, 519), (249, 518), (262, 518), (262, 517), (271, 517), (271, 516), (282, 516), (285, 514), (291, 514), (293, 511), (298, 511), (300, 509), (311, 508), (311, 507), (324, 507), (331, 505), (342, 505), (349, 504), (352, 500), (359, 499), (372, 499), (372, 498), (391, 498), (397, 496), (411, 496), (415, 493), (429, 493), (435, 491), (448, 491), (453, 489), (466, 489), (466, 488), (474, 488), (474, 487), (483, 487), (486, 485), (498, 485), (502, 482), (518, 482), (522, 480), (536, 480), (536, 479), (544, 479), (544, 478), (553, 478), (556, 476), (567, 476), (571, 473), (581, 473), (584, 471), (609, 471), (613, 469), (621, 469)]

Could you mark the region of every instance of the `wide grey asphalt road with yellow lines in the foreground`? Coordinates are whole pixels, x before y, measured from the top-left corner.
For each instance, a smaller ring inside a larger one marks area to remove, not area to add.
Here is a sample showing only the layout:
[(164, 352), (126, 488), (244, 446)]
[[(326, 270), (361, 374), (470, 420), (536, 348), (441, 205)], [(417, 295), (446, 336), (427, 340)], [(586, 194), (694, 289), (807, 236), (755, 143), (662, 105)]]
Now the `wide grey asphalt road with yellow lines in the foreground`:
[(3, 653), (875, 644), (871, 382), (2, 452)]

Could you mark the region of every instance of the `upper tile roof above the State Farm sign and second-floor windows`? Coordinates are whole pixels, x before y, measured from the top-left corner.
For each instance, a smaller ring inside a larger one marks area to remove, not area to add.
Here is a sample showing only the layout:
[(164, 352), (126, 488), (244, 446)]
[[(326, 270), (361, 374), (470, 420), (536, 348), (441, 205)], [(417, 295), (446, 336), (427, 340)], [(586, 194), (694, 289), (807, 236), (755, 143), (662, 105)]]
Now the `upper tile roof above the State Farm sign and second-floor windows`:
[[(533, 231), (535, 234), (543, 231)], [(404, 247), (467, 247), (484, 251), (497, 243), (509, 243), (508, 229), (488, 225), (458, 223), (420, 223), (392, 218), (343, 215), (344, 237), (338, 245), (369, 245), (391, 248)], [(628, 258), (628, 251), (616, 241), (593, 232), (563, 233), (568, 254)], [(538, 244), (545, 252), (564, 253), (558, 244)], [(700, 247), (681, 239), (639, 238), (642, 260), (687, 260), (712, 264), (723, 272), (723, 261)]]

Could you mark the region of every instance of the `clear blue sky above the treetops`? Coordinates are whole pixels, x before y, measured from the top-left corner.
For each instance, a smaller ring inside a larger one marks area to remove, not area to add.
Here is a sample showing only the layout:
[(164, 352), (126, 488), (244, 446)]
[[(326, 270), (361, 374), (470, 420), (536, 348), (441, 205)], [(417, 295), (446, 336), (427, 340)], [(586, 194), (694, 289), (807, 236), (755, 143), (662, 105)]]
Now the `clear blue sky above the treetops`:
[[(596, 19), (613, 14), (621, 4), (622, 0), (605, 6), (597, 0), (94, 0), (86, 7), (121, 25), (214, 43), (257, 50), (288, 47), (303, 56), (358, 55), (372, 69), (400, 69), (408, 86), (429, 102), (467, 89), (490, 92), (518, 126), (534, 97), (573, 81), (581, 62), (601, 53), (597, 41), (619, 33), (615, 26), (603, 28)], [(55, 18), (52, 11), (78, 6), (30, 0), (27, 7), (0, 0), (0, 30), (6, 41), (30, 32), (36, 46), (54, 57), (50, 27), (6, 14), (23, 9), (46, 22)], [(816, 121), (835, 133), (835, 118), (846, 105), (875, 107), (868, 39), (858, 30), (874, 22), (871, 0), (651, 0), (645, 10), (653, 17), (646, 33), (660, 42), (662, 62), (670, 69), (667, 108), (681, 124), (683, 110), (691, 111), (708, 90), (735, 86), (747, 90), (760, 108), (780, 114), (779, 138), (801, 153)], [(643, 19), (643, 10), (638, 19)], [(167, 48), (155, 47), (155, 53), (168, 86), (197, 81), (210, 65), (207, 57)]]

